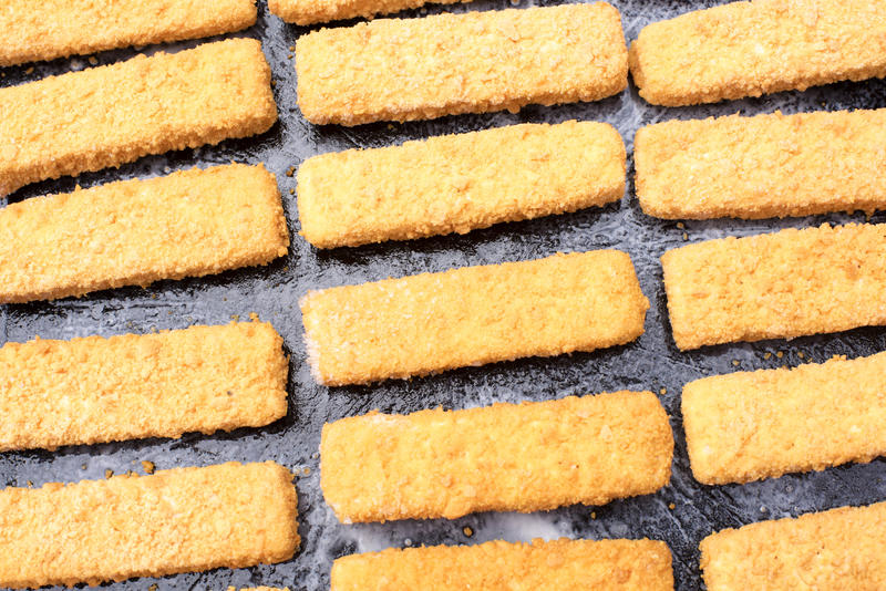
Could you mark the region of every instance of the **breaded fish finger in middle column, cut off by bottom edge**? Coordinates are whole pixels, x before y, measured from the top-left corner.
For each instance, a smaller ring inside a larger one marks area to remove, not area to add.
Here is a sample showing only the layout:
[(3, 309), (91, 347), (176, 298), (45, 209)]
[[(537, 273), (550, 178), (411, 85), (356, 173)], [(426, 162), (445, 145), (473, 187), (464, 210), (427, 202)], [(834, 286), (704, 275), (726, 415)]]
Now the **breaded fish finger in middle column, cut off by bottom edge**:
[(331, 591), (673, 591), (671, 552), (653, 540), (389, 548), (332, 563)]

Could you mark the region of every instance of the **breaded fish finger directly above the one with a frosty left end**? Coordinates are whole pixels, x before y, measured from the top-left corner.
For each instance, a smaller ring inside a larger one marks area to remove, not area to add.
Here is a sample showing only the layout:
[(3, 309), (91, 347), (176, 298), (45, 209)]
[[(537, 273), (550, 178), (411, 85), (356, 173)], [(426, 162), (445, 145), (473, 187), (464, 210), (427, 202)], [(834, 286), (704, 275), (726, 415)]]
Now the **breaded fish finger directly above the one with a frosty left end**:
[(576, 121), (323, 154), (298, 170), (301, 235), (358, 246), (605, 205), (625, 194), (625, 158), (615, 127)]

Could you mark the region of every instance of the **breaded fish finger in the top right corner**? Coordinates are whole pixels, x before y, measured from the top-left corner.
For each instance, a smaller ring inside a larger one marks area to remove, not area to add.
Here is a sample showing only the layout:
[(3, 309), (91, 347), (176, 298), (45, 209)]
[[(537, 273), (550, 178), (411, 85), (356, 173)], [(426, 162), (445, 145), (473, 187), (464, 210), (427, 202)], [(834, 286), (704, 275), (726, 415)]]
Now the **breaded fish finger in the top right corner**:
[(886, 76), (886, 0), (753, 0), (645, 27), (640, 96), (683, 106)]

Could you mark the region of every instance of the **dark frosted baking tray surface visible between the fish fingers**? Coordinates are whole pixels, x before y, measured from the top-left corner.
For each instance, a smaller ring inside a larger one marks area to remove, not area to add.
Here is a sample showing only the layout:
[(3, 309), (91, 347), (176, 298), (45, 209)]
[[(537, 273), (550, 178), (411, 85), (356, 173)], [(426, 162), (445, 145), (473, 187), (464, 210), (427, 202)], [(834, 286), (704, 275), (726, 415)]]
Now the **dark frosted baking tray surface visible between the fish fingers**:
[[(611, 0), (621, 11), (628, 40), (653, 21), (720, 3), (712, 1), (662, 2)], [(432, 7), (404, 12), (405, 17), (466, 10), (525, 8), (554, 4), (548, 1), (508, 2), (480, 0), (471, 4)], [(78, 179), (63, 178), (25, 187), (8, 201), (35, 195), (69, 191), (75, 183), (84, 187), (102, 183), (145, 177), (188, 168), (194, 165), (266, 163), (276, 173), (284, 194), (292, 248), (289, 255), (265, 268), (244, 269), (216, 277), (161, 281), (148, 289), (125, 288), (99, 292), (82, 299), (0, 307), (0, 343), (45, 339), (71, 339), (89, 334), (145, 333), (182, 329), (190, 324), (219, 324), (250, 312), (274, 323), (284, 335), (291, 355), (288, 416), (265, 428), (238, 429), (210, 437), (188, 435), (178, 440), (147, 439), (96, 446), (62, 448), (55, 453), (24, 452), (0, 454), (0, 486), (40, 486), (47, 481), (74, 481), (103, 478), (105, 470), (116, 474), (141, 471), (141, 460), (157, 468), (205, 466), (227, 460), (277, 460), (298, 475), (299, 532), (301, 550), (289, 562), (253, 569), (219, 569), (161, 579), (135, 579), (109, 584), (113, 589), (158, 590), (213, 589), (269, 584), (292, 590), (322, 590), (329, 585), (329, 569), (337, 557), (388, 547), (420, 545), (478, 543), (493, 539), (532, 538), (638, 538), (668, 542), (673, 552), (677, 588), (702, 588), (698, 568), (698, 543), (711, 531), (762, 519), (830, 509), (842, 505), (868, 504), (886, 499), (886, 462), (848, 465), (823, 473), (791, 475), (744, 486), (701, 486), (689, 470), (680, 419), (681, 386), (698, 377), (736, 370), (822, 362), (832, 355), (868, 355), (886, 350), (886, 330), (859, 329), (845, 333), (785, 341), (763, 341), (707, 348), (691, 353), (677, 350), (670, 335), (659, 257), (670, 248), (688, 242), (745, 236), (783, 227), (808, 227), (823, 222), (864, 221), (863, 215), (833, 215), (789, 220), (691, 221), (680, 225), (645, 216), (637, 204), (629, 160), (625, 199), (604, 208), (544, 219), (504, 224), (466, 236), (447, 236), (409, 242), (389, 242), (354, 249), (318, 251), (297, 235), (298, 215), (295, 176), (288, 170), (315, 154), (353, 147), (378, 147), (408, 139), (468, 132), (523, 122), (604, 121), (615, 125), (631, 153), (633, 134), (641, 125), (668, 118), (697, 118), (710, 115), (785, 113), (886, 106), (886, 83), (867, 81), (839, 83), (787, 92), (763, 98), (733, 101), (717, 105), (664, 108), (647, 104), (637, 89), (597, 103), (554, 107), (530, 106), (518, 114), (462, 115), (433, 122), (372, 124), (347, 128), (313, 126), (296, 104), (295, 40), (309, 29), (282, 23), (268, 13), (260, 1), (258, 23), (238, 35), (254, 37), (264, 43), (276, 81), (280, 121), (268, 133), (247, 139), (224, 142), (219, 146), (186, 149)], [(351, 23), (346, 23), (351, 24)], [(178, 50), (200, 41), (176, 43), (161, 49)], [(158, 48), (142, 48), (153, 52)], [(97, 54), (101, 64), (131, 58), (138, 50)], [(93, 65), (87, 58), (56, 60), (0, 69), (0, 86), (20, 84), (50, 74)], [(886, 141), (886, 138), (885, 138)], [(0, 206), (6, 205), (0, 201)], [(872, 222), (886, 221), (883, 214)], [(163, 240), (163, 236), (157, 236)], [(63, 248), (63, 245), (61, 246)], [(554, 359), (529, 359), (446, 372), (411, 381), (392, 381), (368, 387), (318, 386), (305, 363), (302, 326), (298, 300), (309, 289), (359, 283), (452, 267), (484, 265), (545, 257), (557, 251), (618, 248), (630, 253), (643, 292), (652, 308), (646, 333), (636, 342), (590, 354)], [(771, 353), (772, 355), (766, 355)], [(783, 353), (780, 357), (775, 353)], [(801, 353), (803, 357), (801, 359)], [(342, 526), (326, 506), (319, 486), (318, 446), (320, 428), (327, 421), (379, 408), (408, 413), (433, 406), (463, 408), (499, 401), (542, 401), (569, 394), (633, 388), (658, 393), (671, 416), (677, 438), (673, 477), (670, 486), (656, 495), (615, 501), (604, 507), (567, 507), (530, 515), (480, 514), (453, 521), (401, 521)], [(2, 417), (0, 417), (2, 428)], [(470, 528), (470, 529), (466, 529)], [(468, 531), (472, 535), (467, 536)]]

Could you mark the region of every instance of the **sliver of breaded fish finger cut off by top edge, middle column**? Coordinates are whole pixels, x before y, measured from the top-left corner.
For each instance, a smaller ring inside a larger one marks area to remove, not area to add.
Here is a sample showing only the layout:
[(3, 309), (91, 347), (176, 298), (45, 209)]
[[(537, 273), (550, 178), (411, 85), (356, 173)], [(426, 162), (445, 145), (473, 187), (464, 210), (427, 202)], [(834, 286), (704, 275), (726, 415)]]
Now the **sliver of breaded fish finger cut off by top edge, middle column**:
[(268, 0), (270, 11), (286, 22), (315, 24), (375, 14), (390, 14), (424, 4), (454, 4), (471, 0)]

